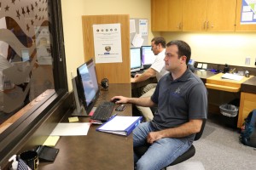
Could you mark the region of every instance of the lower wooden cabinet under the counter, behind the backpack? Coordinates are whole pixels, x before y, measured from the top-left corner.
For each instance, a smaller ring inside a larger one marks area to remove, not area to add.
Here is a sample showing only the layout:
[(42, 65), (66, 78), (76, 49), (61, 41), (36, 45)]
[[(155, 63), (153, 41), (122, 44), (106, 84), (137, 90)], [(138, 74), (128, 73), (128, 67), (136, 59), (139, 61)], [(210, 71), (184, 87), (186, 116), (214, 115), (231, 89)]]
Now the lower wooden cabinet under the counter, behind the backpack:
[(237, 127), (241, 128), (244, 119), (247, 117), (250, 111), (253, 111), (253, 109), (256, 109), (256, 94), (247, 94), (241, 92)]

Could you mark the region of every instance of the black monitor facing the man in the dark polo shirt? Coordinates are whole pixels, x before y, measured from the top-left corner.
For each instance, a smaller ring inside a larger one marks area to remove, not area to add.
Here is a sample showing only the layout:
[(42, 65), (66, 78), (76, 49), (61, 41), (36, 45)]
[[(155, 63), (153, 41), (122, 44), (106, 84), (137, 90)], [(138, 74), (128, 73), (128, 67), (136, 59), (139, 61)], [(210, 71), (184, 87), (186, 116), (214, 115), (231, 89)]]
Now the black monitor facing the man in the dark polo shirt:
[(96, 103), (96, 99), (100, 94), (93, 59), (90, 59), (83, 65), (79, 66), (77, 71), (79, 89), (81, 91), (81, 93), (79, 93), (79, 97), (82, 99), (85, 110), (89, 112)]

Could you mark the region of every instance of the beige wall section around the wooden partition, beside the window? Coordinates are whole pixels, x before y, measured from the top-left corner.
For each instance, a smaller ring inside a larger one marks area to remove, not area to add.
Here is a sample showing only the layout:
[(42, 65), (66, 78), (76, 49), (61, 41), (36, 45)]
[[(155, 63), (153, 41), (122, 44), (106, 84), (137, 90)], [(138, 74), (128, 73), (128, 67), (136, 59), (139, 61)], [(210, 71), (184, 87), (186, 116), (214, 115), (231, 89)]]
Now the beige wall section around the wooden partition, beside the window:
[(71, 72), (76, 75), (76, 68), (84, 63), (82, 15), (130, 14), (131, 18), (148, 18), (148, 40), (153, 37), (150, 0), (61, 0), (61, 9), (69, 90), (72, 89)]

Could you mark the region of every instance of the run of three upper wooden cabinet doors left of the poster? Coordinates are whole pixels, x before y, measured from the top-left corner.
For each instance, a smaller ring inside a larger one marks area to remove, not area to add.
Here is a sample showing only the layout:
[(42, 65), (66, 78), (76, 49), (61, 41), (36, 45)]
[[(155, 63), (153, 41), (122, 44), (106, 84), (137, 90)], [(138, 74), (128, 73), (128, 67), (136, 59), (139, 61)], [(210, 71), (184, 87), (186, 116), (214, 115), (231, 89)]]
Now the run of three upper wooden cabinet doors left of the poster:
[(235, 31), (236, 0), (152, 0), (151, 3), (152, 31)]

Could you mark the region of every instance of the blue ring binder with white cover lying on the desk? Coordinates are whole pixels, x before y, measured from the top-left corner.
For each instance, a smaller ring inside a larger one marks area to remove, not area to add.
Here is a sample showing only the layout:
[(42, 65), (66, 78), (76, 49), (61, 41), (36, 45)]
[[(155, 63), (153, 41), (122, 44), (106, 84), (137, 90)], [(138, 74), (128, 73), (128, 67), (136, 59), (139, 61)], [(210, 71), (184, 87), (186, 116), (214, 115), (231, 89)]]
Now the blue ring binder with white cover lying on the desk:
[(142, 116), (113, 116), (96, 131), (128, 136), (142, 119)]

